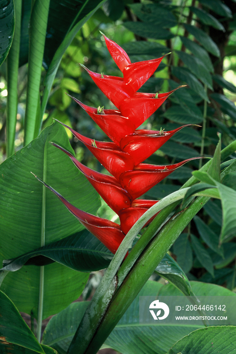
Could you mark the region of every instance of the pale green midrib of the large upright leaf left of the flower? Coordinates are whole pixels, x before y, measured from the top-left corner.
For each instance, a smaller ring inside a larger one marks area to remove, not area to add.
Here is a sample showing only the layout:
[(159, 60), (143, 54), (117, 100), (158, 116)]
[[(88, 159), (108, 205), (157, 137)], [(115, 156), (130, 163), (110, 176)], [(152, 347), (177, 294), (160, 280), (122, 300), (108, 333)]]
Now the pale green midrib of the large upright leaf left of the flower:
[[(46, 144), (44, 146), (43, 156), (43, 181), (46, 182), (46, 166), (47, 166), (47, 152)], [(42, 216), (41, 216), (41, 239), (40, 246), (45, 245), (45, 218), (46, 218), (46, 187), (42, 186)], [(42, 328), (42, 315), (43, 315), (43, 293), (44, 293), (44, 266), (40, 267), (39, 276), (39, 297), (38, 297), (38, 321), (37, 321), (37, 339), (41, 340), (41, 328)]]

